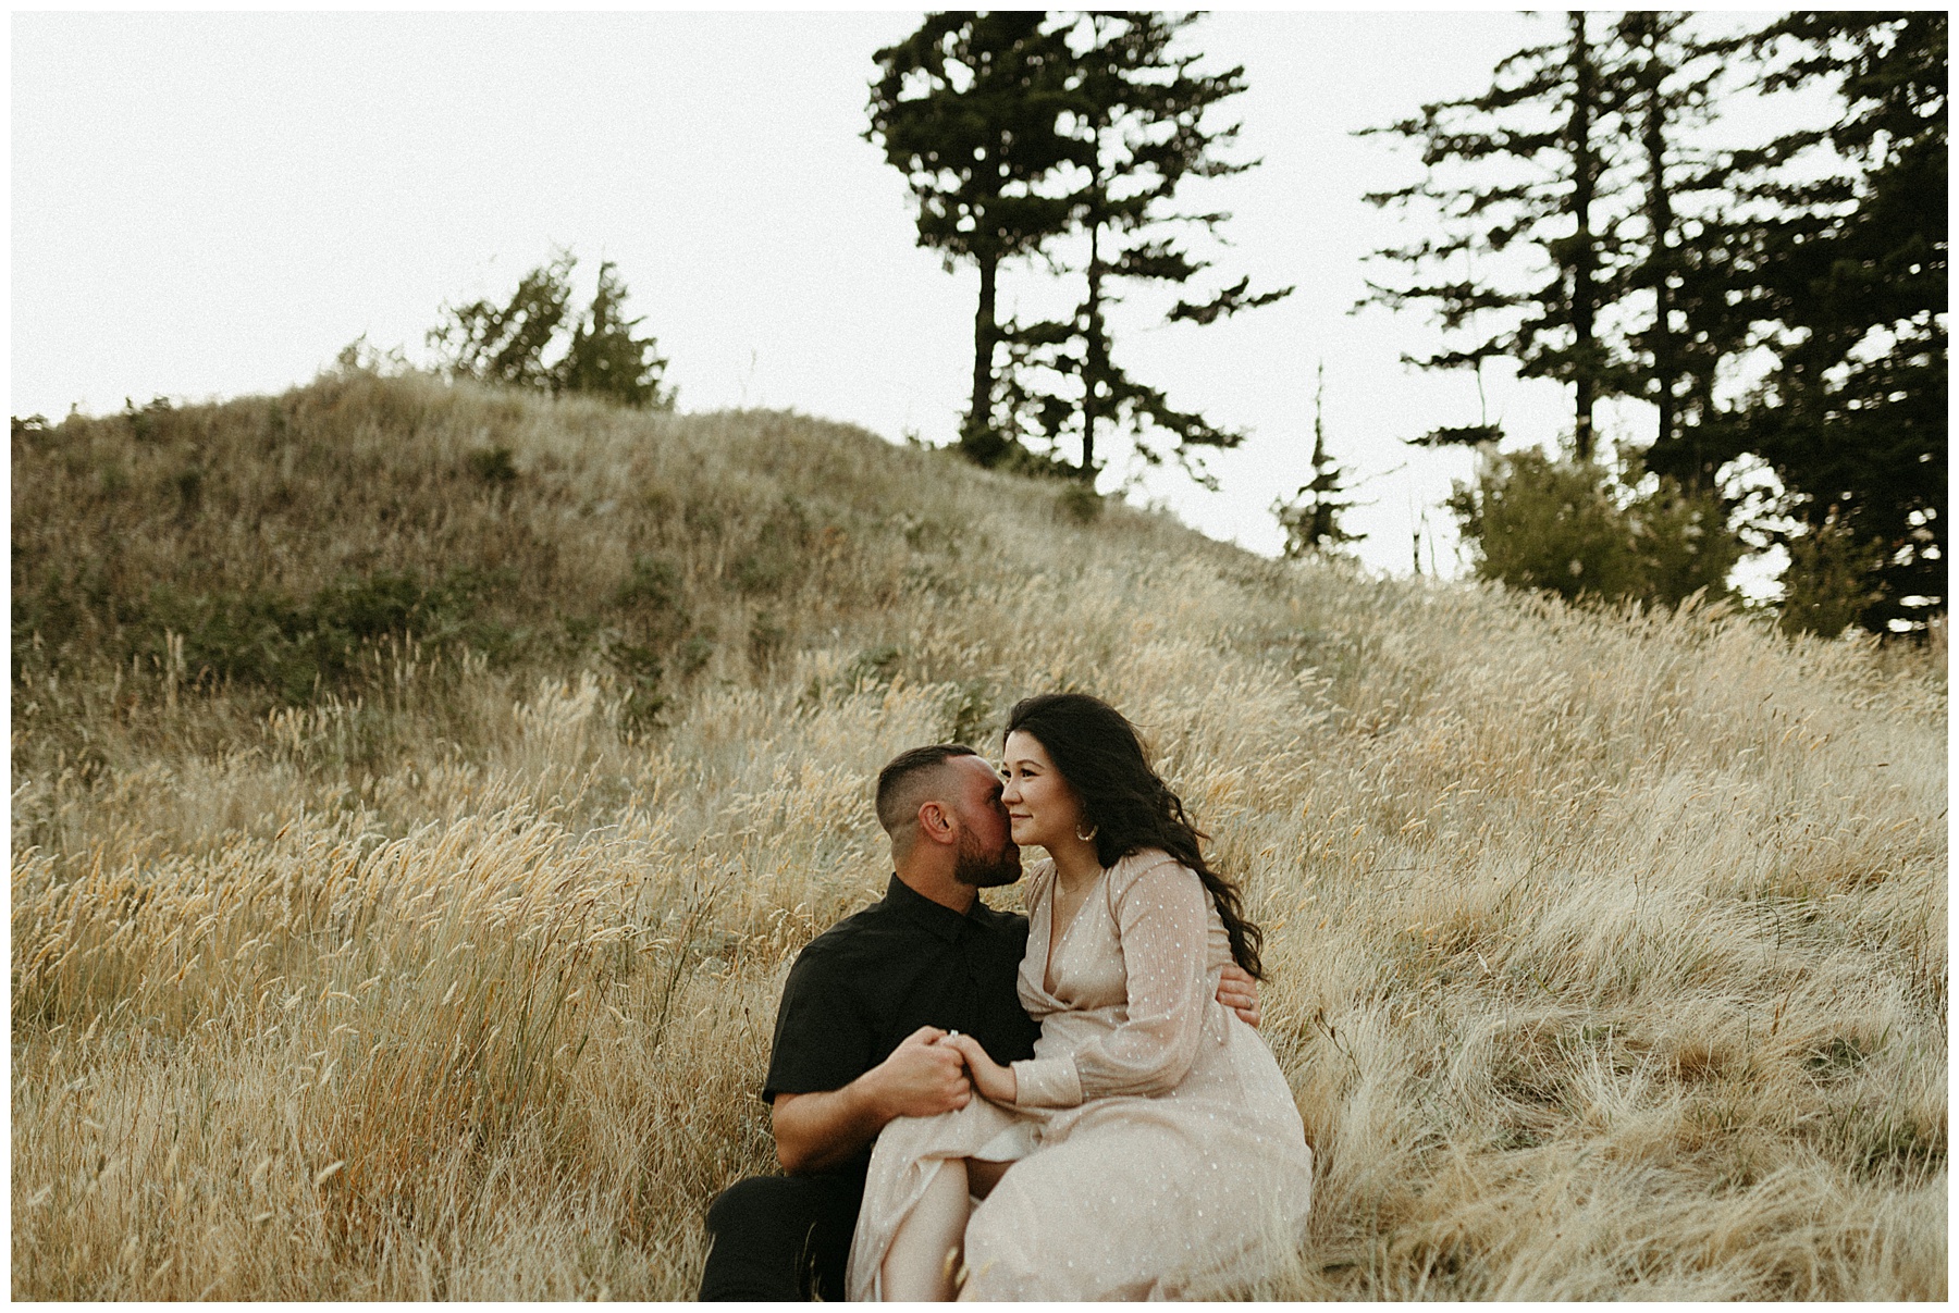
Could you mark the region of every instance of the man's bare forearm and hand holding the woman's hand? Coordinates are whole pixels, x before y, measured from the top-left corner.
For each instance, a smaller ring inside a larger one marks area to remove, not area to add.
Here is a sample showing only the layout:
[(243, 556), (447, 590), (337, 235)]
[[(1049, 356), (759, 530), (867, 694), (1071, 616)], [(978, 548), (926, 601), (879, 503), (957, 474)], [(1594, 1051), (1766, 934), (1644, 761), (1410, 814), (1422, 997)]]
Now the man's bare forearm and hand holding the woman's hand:
[(846, 1162), (891, 1117), (931, 1117), (966, 1108), (972, 1102), (966, 1059), (958, 1049), (938, 1045), (942, 1037), (942, 1029), (921, 1025), (891, 1049), (891, 1057), (842, 1090), (778, 1094), (770, 1123), (784, 1170), (821, 1172)]

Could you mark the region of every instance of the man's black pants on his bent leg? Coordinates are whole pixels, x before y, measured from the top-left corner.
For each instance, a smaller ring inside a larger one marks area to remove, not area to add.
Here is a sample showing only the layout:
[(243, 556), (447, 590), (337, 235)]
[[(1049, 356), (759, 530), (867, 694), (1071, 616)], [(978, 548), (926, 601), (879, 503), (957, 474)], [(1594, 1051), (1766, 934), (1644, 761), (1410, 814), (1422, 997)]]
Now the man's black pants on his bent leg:
[(864, 1176), (750, 1176), (707, 1205), (701, 1299), (844, 1297)]

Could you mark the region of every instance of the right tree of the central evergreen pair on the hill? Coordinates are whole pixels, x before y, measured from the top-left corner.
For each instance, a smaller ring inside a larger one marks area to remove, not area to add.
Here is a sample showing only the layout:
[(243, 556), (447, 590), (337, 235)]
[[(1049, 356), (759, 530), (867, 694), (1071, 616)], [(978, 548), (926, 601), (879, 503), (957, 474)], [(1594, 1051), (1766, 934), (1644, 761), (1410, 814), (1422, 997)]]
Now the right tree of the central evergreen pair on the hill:
[[(1197, 448), (1230, 448), (1244, 434), (1218, 429), (1142, 384), (1115, 360), (1109, 307), (1123, 284), (1183, 288), (1209, 268), (1181, 245), (1179, 229), (1215, 233), (1230, 215), (1177, 213), (1170, 205), (1189, 178), (1220, 178), (1252, 168), (1220, 151), (1238, 125), (1215, 125), (1213, 110), (1246, 90), (1244, 68), (1203, 72), (1199, 53), (1173, 49), (1195, 14), (1085, 14), (1056, 31), (1070, 41), (1066, 127), (1081, 151), (1068, 196), (1087, 237), (1079, 266), (1083, 297), (1066, 321), (1015, 325), (1011, 409), (1017, 423), (1050, 446), (1072, 432), (1081, 444), (1077, 472), (1101, 468), (1105, 425), (1128, 432), (1148, 462), (1177, 458), (1199, 481)], [(1252, 292), (1250, 278), (1201, 299), (1179, 299), (1170, 323), (1207, 325), (1291, 288)], [(1062, 382), (1038, 382), (1038, 380)]]

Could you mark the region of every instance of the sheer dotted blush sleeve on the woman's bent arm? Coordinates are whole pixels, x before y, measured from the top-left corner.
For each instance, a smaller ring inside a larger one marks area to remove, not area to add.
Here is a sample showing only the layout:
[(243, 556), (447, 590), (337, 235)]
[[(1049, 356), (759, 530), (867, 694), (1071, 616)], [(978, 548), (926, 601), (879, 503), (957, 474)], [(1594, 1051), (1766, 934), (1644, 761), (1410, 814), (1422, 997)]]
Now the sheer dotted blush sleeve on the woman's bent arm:
[[(1066, 1057), (1013, 1064), (1023, 1108), (1074, 1108), (1109, 1094), (1168, 1094), (1189, 1072), (1205, 1029), (1211, 898), (1175, 859), (1109, 873), (1128, 976), (1128, 1016)], [(1140, 865), (1140, 863), (1138, 863)]]

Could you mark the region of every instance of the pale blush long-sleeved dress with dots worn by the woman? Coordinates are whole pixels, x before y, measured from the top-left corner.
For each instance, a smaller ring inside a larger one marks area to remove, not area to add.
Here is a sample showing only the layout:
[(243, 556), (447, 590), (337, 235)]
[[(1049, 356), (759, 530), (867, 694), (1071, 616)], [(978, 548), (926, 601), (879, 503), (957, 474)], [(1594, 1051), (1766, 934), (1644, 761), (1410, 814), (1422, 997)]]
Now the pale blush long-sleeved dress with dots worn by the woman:
[(891, 1237), (948, 1158), (1013, 1162), (966, 1227), (966, 1299), (1218, 1297), (1297, 1250), (1313, 1151), (1271, 1049), (1217, 1002), (1230, 943), (1211, 894), (1154, 849), (1099, 883), (1056, 941), (1054, 863), (1028, 873), (1019, 992), (1040, 1039), (1013, 1064), (1017, 1102), (884, 1129), (852, 1299), (880, 1297)]

